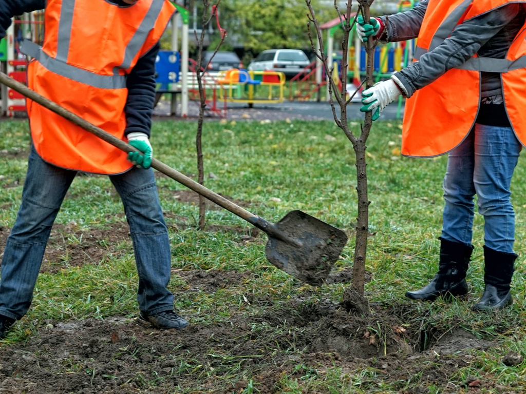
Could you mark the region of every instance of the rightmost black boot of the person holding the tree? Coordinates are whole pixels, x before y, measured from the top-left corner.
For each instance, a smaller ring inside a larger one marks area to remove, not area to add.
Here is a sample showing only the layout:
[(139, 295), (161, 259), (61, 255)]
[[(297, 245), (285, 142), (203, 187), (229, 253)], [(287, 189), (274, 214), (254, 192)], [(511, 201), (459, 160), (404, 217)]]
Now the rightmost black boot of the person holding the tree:
[(484, 246), (484, 293), (473, 310), (498, 310), (513, 302), (510, 283), (515, 253), (497, 252)]

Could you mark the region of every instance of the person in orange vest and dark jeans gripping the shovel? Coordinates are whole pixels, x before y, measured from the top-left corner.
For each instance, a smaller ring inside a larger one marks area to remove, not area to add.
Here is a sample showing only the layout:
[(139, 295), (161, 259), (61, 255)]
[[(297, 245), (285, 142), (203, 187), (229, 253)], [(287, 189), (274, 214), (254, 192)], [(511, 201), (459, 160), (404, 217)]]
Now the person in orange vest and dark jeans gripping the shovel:
[(149, 142), (159, 39), (175, 12), (168, 0), (3, 0), (0, 36), (14, 15), (45, 9), (42, 47), (28, 86), (127, 141), (125, 152), (27, 100), (32, 146), (22, 204), (0, 271), (0, 339), (29, 309), (55, 217), (78, 171), (106, 174), (122, 199), (139, 276), (138, 322), (181, 329), (168, 290), (171, 252)]

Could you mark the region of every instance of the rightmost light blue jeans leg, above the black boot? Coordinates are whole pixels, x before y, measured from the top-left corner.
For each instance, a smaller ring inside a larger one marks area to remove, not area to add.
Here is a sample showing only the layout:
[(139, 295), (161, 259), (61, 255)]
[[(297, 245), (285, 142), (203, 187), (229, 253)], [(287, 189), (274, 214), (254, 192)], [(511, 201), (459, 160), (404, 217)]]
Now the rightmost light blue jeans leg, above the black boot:
[(476, 125), (477, 205), (484, 216), (484, 244), (498, 252), (513, 253), (515, 213), (510, 185), (521, 149), (510, 127)]

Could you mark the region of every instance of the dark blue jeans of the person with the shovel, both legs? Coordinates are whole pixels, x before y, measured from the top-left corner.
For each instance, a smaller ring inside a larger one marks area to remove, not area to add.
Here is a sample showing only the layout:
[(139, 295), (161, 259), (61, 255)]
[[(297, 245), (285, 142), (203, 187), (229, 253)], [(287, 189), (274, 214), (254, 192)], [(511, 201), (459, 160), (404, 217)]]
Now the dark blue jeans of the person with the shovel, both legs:
[[(20, 319), (31, 306), (51, 227), (76, 173), (45, 162), (32, 147), (22, 204), (2, 258), (0, 315)], [(123, 201), (130, 226), (139, 308), (150, 314), (171, 310), (174, 296), (167, 289), (170, 244), (153, 170), (134, 167), (109, 178)]]

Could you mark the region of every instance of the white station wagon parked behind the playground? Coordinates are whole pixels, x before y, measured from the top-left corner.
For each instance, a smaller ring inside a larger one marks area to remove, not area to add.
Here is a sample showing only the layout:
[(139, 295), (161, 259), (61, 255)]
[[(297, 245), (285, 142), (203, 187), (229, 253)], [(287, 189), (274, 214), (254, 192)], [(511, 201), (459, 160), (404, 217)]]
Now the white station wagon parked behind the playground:
[(248, 65), (251, 71), (281, 71), (293, 77), (302, 71), (309, 72), (310, 60), (301, 49), (268, 49), (262, 51)]

